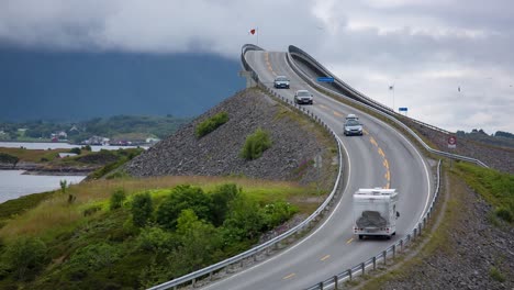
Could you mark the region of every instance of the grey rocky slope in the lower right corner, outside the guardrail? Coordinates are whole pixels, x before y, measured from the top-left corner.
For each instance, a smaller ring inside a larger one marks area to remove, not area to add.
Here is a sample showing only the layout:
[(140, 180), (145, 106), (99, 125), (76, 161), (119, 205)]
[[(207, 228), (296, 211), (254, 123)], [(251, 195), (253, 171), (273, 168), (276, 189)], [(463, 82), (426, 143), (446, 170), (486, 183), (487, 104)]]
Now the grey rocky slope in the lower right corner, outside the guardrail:
[(458, 201), (447, 207), (458, 214), (438, 233), (444, 244), (381, 289), (514, 289), (514, 227), (493, 226), (491, 205), (462, 181), (449, 190)]

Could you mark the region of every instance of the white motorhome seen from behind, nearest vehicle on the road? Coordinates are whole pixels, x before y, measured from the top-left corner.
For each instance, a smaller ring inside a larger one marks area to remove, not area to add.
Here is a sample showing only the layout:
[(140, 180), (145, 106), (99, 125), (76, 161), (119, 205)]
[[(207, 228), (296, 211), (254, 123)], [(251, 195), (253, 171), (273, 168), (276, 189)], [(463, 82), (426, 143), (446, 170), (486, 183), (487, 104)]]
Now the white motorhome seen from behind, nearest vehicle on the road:
[(399, 194), (395, 189), (359, 189), (354, 193), (354, 234), (386, 236), (396, 234)]

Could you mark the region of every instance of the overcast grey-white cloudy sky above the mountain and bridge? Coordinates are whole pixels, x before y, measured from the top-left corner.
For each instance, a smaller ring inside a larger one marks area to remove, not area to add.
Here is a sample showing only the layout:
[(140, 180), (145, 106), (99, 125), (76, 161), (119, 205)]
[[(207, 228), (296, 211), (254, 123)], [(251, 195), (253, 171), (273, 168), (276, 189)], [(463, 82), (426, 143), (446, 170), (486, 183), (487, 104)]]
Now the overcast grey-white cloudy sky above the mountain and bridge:
[(1, 0), (0, 43), (237, 59), (257, 29), (259, 46), (297, 45), (410, 116), (514, 133), (513, 11), (512, 0)]

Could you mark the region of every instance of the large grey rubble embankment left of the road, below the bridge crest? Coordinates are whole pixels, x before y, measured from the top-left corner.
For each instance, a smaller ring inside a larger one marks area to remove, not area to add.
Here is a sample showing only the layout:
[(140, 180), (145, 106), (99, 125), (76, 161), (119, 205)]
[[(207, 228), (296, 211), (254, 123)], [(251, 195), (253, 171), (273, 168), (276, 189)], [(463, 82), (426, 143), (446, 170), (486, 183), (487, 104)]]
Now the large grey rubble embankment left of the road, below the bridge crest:
[[(198, 138), (194, 130), (199, 122), (219, 112), (227, 112), (228, 122)], [(246, 137), (258, 127), (269, 133), (272, 145), (260, 158), (245, 160), (239, 152)], [(314, 157), (320, 153), (329, 156), (328, 146), (336, 146), (335, 142), (322, 144), (316, 137), (320, 134), (320, 126), (300, 118), (292, 109), (258, 89), (248, 89), (159, 142), (124, 169), (138, 177), (232, 175), (309, 183), (317, 177), (312, 166)], [(329, 165), (332, 159), (324, 158), (324, 163)]]

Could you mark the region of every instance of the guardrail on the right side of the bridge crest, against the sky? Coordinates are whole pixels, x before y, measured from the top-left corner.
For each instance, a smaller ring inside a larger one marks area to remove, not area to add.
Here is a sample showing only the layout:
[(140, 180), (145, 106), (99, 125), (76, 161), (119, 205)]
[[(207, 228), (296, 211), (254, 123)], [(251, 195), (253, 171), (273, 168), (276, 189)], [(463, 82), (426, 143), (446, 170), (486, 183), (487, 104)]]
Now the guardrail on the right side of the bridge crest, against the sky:
[[(432, 148), (431, 146), (428, 146), (416, 133), (414, 133), (414, 131), (412, 131), (409, 126), (406, 126), (403, 122), (401, 122), (400, 120), (398, 120), (395, 118), (396, 113), (394, 111), (392, 111), (391, 109), (378, 103), (377, 101), (375, 100), (371, 100), (370, 98), (366, 97), (365, 94), (358, 92), (357, 90), (355, 90), (354, 88), (351, 88), (350, 86), (346, 85), (345, 82), (343, 82), (342, 80), (337, 79), (337, 77), (335, 77), (332, 72), (329, 72), (325, 67), (323, 67), (320, 63), (317, 63), (317, 60), (315, 60), (312, 56), (310, 56), (309, 54), (306, 54), (305, 52), (303, 52), (302, 49), (293, 46), (293, 45), (290, 45), (289, 46), (289, 53), (287, 54), (287, 60), (289, 63), (289, 65), (291, 66), (291, 68), (300, 76), (302, 77), (308, 83), (310, 83), (312, 87), (316, 88), (317, 90), (320, 91), (325, 91), (325, 92), (328, 92), (331, 94), (335, 94), (335, 96), (338, 96), (339, 98), (346, 98), (348, 101), (350, 102), (354, 102), (354, 103), (358, 103), (360, 105), (364, 105), (366, 107), (367, 109), (369, 110), (372, 110), (375, 112), (377, 112), (378, 114), (393, 121), (394, 123), (396, 123), (399, 126), (401, 126), (403, 130), (405, 130), (411, 136), (413, 136), (426, 150), (428, 150), (429, 153), (433, 153), (433, 154), (437, 154), (437, 155), (440, 155), (440, 156), (444, 156), (444, 157), (447, 157), (447, 158), (452, 158), (452, 159), (457, 159), (457, 160), (463, 160), (463, 161), (469, 161), (469, 163), (473, 163), (473, 164), (477, 164), (479, 166), (482, 166), (482, 167), (487, 167), (489, 168), (488, 165), (485, 165), (484, 163), (482, 163), (481, 160), (479, 159), (476, 159), (476, 158), (471, 158), (471, 157), (467, 157), (467, 156), (462, 156), (462, 155), (457, 155), (457, 154), (452, 154), (452, 153), (447, 153), (447, 152), (443, 152), (443, 150), (437, 150), (437, 149), (434, 149)], [(333, 90), (329, 90), (323, 86), (320, 86), (314, 79), (312, 79), (310, 76), (308, 76), (297, 64), (295, 64), (295, 60), (293, 59), (292, 55), (295, 55), (297, 57), (301, 57), (304, 62), (306, 62), (309, 65), (313, 66), (315, 69), (317, 69), (319, 71), (322, 71), (323, 74), (326, 74), (326, 76), (331, 76), (334, 78), (334, 81), (340, 86), (342, 90), (345, 90), (345, 91), (349, 91), (353, 93), (351, 97), (354, 98), (349, 98), (348, 96), (342, 93), (340, 91), (333, 91)], [(446, 133), (446, 134), (449, 134), (448, 131), (445, 131), (443, 129), (438, 129), (436, 126), (432, 126), (432, 125), (428, 125), (428, 124), (425, 124), (421, 121), (417, 121), (415, 119), (410, 119), (412, 120), (413, 122), (416, 122), (421, 125), (424, 125), (424, 126), (427, 126), (427, 127), (431, 127), (433, 130), (436, 130), (436, 131), (439, 131), (439, 132), (443, 132), (443, 133)]]

